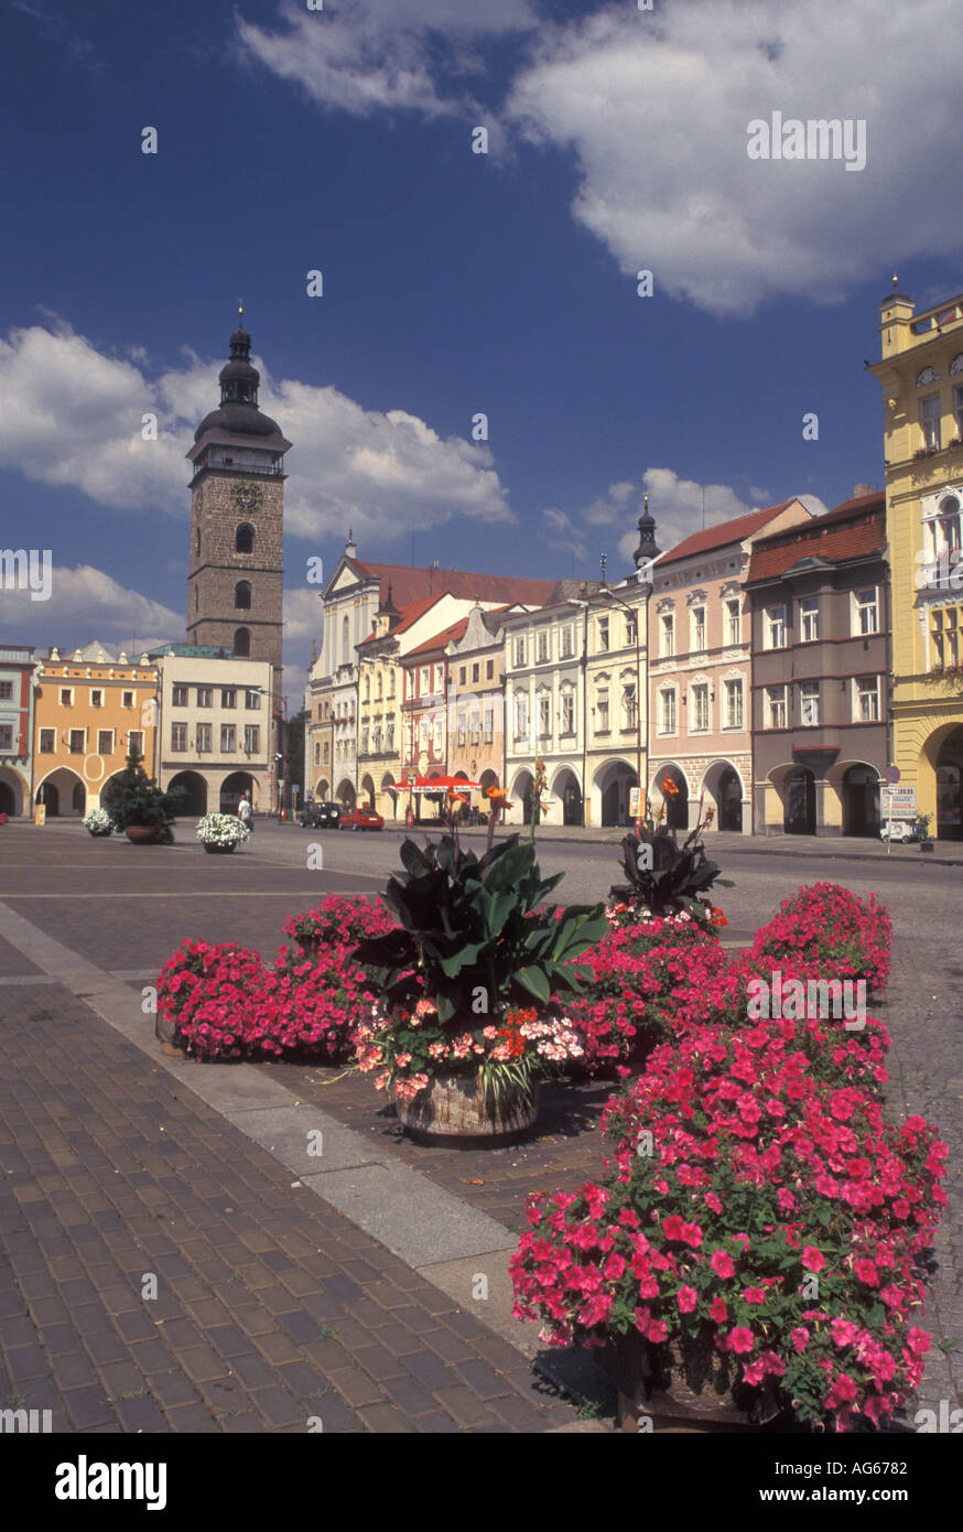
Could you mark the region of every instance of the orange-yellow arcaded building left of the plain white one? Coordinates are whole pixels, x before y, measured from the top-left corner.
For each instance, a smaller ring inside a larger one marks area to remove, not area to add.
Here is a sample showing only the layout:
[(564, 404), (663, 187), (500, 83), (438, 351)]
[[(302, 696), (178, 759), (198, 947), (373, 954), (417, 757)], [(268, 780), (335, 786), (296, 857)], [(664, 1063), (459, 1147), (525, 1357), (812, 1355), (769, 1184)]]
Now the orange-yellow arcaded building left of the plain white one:
[[(98, 662), (96, 656), (103, 654)], [(34, 803), (47, 818), (100, 807), (107, 781), (132, 745), (144, 769), (156, 766), (158, 669), (87, 645), (73, 659), (58, 650), (40, 662), (34, 705)]]

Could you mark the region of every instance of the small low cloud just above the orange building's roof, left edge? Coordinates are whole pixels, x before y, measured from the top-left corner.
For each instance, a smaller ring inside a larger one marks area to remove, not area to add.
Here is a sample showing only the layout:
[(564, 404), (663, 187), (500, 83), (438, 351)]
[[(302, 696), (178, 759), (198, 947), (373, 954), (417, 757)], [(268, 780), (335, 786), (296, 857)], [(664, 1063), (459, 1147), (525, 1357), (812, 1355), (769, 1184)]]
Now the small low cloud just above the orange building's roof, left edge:
[(90, 564), (77, 568), (54, 564), (49, 601), (34, 601), (28, 590), (0, 590), (0, 634), (9, 643), (34, 643), (46, 653), (54, 643), (73, 650), (92, 639), (115, 647), (135, 633), (141, 642), (158, 634), (181, 640), (184, 613), (118, 585)]

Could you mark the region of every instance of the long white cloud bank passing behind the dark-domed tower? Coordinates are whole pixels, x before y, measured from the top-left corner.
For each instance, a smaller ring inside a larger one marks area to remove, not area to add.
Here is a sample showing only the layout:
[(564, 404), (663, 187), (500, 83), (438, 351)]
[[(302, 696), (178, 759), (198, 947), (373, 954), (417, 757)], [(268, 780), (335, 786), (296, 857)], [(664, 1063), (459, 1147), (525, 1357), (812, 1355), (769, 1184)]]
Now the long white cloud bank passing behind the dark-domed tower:
[[(222, 366), (185, 349), (184, 366), (150, 378), (142, 352), (109, 355), (63, 320), (15, 329), (0, 339), (0, 466), (103, 506), (187, 516), (185, 453), (217, 403)], [(351, 524), (390, 544), (459, 516), (513, 519), (488, 447), (441, 438), (404, 409), (369, 411), (335, 388), (274, 385), (260, 371), (262, 408), (295, 446), (289, 535), (340, 538)], [(144, 414), (158, 417), (156, 441), (142, 440)]]

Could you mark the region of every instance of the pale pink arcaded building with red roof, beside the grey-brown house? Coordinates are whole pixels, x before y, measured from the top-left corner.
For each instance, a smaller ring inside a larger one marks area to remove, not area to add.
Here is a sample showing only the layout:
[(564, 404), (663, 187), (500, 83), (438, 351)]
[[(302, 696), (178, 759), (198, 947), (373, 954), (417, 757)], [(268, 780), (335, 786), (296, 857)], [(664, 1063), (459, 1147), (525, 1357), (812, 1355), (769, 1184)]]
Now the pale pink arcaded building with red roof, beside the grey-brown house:
[(652, 570), (649, 794), (675, 829), (704, 800), (713, 829), (752, 835), (749, 556), (758, 536), (808, 519), (799, 499), (753, 510), (695, 532)]

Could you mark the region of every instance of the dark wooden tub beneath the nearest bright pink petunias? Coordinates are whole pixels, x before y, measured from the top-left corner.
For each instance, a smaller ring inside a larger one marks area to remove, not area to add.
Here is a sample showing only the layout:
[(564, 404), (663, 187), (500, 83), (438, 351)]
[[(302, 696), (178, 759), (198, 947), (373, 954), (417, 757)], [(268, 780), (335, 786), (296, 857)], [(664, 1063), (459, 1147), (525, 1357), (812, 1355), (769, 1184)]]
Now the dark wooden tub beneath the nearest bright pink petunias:
[(758, 1431), (784, 1414), (767, 1388), (743, 1386), (739, 1399), (736, 1386), (736, 1403), (732, 1385), (743, 1368), (710, 1339), (657, 1347), (635, 1333), (619, 1336), (597, 1354), (619, 1390), (620, 1431), (638, 1431), (640, 1416), (703, 1431)]

